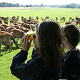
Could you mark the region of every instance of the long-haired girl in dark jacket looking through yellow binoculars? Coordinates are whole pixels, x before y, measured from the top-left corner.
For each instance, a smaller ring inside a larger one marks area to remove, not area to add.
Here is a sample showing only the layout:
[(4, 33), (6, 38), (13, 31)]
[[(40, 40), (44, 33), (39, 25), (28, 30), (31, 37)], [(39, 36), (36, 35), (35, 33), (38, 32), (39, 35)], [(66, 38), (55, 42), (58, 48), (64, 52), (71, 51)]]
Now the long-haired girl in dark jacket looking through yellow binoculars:
[(36, 28), (32, 59), (27, 59), (32, 40), (29, 34), (21, 39), (22, 50), (13, 57), (11, 73), (20, 80), (59, 80), (62, 57), (62, 31), (57, 22), (45, 21)]

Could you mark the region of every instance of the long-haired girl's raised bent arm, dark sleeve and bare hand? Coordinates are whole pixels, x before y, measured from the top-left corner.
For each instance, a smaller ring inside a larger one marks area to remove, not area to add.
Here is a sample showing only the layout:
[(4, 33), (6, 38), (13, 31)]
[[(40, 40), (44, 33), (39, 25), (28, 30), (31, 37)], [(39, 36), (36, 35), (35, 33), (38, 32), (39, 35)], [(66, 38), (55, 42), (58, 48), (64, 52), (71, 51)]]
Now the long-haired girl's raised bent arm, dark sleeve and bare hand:
[[(25, 64), (25, 60), (27, 59), (28, 50), (30, 48), (31, 41), (29, 41), (29, 35), (26, 34), (21, 38), (21, 46), (22, 50), (13, 57), (13, 61), (11, 64), (11, 73), (18, 77), (19, 79), (23, 79), (31, 75), (33, 69), (35, 68), (34, 60), (28, 61), (27, 64)], [(29, 77), (30, 78), (30, 77)]]

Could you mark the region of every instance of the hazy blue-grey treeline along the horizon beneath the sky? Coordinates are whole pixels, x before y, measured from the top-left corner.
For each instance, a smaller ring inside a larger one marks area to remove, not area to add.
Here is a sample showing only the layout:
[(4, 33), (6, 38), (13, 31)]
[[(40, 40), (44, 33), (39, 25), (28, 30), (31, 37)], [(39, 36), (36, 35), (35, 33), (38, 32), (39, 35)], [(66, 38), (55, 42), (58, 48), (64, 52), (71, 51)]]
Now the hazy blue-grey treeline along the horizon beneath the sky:
[(6, 2), (2, 2), (0, 3), (0, 7), (59, 7), (59, 8), (80, 8), (80, 4), (75, 4), (75, 3), (71, 3), (71, 4), (67, 4), (67, 5), (32, 5), (32, 4), (26, 4), (26, 5), (20, 5), (19, 3), (16, 4), (12, 4), (12, 3), (6, 3)]

